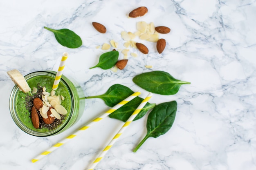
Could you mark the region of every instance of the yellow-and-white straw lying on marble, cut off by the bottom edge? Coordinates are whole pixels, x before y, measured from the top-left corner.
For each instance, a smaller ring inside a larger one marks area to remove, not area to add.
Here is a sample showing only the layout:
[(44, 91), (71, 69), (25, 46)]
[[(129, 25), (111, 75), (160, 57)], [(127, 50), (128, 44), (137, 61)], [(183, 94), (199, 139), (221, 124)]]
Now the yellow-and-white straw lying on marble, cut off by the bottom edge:
[(135, 117), (138, 115), (138, 113), (141, 111), (141, 109), (146, 105), (148, 100), (152, 97), (152, 93), (150, 92), (148, 96), (141, 102), (141, 104), (137, 107), (137, 109), (132, 113), (132, 115), (129, 117), (129, 119), (126, 121), (124, 126), (121, 127), (121, 129), (117, 132), (117, 134), (113, 137), (113, 139), (110, 141), (110, 143), (104, 148), (101, 152), (101, 154), (93, 161), (92, 165), (90, 168), (87, 170), (93, 170), (95, 166), (101, 161), (101, 159), (106, 155), (108, 150), (115, 144), (117, 139), (122, 135), (124, 130), (130, 125), (130, 123), (135, 119)]

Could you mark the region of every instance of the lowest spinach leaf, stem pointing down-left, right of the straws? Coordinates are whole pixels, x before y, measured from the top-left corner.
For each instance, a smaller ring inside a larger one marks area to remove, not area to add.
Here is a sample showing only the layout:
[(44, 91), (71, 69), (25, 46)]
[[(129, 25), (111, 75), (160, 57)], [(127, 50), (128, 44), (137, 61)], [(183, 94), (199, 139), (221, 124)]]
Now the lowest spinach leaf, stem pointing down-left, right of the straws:
[(160, 135), (164, 135), (173, 125), (176, 111), (176, 101), (166, 102), (155, 106), (155, 108), (148, 114), (146, 125), (148, 132), (133, 152), (136, 152), (149, 137), (157, 138)]

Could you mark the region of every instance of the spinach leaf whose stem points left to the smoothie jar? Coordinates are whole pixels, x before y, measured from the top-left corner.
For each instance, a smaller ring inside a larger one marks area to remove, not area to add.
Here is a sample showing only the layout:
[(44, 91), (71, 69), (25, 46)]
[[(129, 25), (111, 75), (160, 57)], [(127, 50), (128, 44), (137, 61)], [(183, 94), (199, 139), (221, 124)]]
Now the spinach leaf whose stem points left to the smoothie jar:
[(133, 93), (134, 92), (126, 86), (123, 86), (121, 84), (114, 84), (110, 88), (108, 88), (108, 91), (103, 95), (89, 96), (85, 97), (85, 99), (101, 98), (104, 100), (107, 106), (114, 107), (116, 104), (126, 99)]

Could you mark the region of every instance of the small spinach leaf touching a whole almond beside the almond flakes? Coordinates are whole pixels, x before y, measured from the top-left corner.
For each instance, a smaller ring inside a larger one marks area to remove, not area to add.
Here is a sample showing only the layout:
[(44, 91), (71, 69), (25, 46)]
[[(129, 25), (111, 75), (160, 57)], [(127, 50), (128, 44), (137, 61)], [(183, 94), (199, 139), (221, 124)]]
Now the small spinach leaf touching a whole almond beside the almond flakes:
[(104, 70), (109, 69), (112, 66), (115, 66), (115, 64), (117, 63), (118, 55), (118, 51), (109, 51), (107, 53), (103, 53), (99, 57), (99, 63), (96, 66), (91, 67), (90, 69), (95, 67), (100, 67)]

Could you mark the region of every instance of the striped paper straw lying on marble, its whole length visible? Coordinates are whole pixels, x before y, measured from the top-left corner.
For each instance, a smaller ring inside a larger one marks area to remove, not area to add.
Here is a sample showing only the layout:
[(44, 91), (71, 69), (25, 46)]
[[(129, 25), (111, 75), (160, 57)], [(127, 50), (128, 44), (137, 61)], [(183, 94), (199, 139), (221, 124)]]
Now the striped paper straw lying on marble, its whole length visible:
[(103, 119), (104, 117), (107, 117), (108, 115), (110, 115), (111, 113), (113, 113), (115, 110), (119, 109), (121, 106), (124, 106), (126, 103), (130, 102), (132, 99), (134, 99), (135, 97), (137, 97), (140, 94), (140, 92), (135, 92), (132, 95), (130, 95), (129, 97), (127, 97), (126, 99), (124, 99), (122, 102), (120, 102), (119, 104), (115, 105), (114, 107), (112, 107), (110, 110), (106, 111), (106, 113), (103, 113), (101, 116), (97, 117), (96, 119), (92, 120), (90, 123), (85, 124), (83, 127), (81, 127), (79, 130), (77, 130), (76, 132), (74, 132), (73, 134), (67, 136), (66, 138), (62, 139), (61, 141), (59, 141), (57, 144), (53, 145), (51, 148), (49, 148), (48, 150), (42, 152), (40, 155), (38, 155), (37, 157), (35, 157), (34, 159), (32, 159), (31, 161), (34, 163), (36, 161), (38, 161), (39, 159), (45, 157), (46, 155), (48, 155), (49, 153), (53, 152), (54, 150), (56, 150), (57, 148), (59, 148), (60, 146), (62, 146), (63, 144), (67, 143), (67, 141), (70, 141), (71, 139), (73, 139), (74, 137), (76, 137), (77, 135), (79, 135), (81, 132), (83, 132), (84, 130), (90, 128), (92, 125), (94, 125), (95, 123), (97, 123), (98, 121), (100, 121), (101, 119)]

